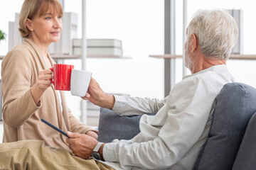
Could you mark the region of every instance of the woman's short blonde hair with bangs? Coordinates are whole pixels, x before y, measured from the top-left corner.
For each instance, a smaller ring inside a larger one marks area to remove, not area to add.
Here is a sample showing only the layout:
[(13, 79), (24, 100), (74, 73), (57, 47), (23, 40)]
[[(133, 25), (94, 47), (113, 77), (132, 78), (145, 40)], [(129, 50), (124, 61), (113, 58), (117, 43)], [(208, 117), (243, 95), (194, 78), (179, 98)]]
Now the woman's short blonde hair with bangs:
[(19, 32), (22, 38), (28, 37), (31, 31), (26, 27), (26, 19), (33, 19), (36, 15), (43, 16), (52, 8), (63, 16), (63, 8), (58, 0), (25, 0), (19, 14)]

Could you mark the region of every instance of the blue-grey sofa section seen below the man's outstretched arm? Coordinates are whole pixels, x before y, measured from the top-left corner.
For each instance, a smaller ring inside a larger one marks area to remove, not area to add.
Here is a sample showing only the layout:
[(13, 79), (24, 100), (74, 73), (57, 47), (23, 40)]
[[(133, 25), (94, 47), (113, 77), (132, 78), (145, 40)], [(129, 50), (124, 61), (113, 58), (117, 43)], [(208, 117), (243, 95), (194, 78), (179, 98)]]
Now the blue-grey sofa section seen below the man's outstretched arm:
[(114, 139), (132, 139), (140, 132), (139, 120), (141, 117), (142, 115), (121, 116), (110, 109), (100, 108), (98, 140), (112, 142)]

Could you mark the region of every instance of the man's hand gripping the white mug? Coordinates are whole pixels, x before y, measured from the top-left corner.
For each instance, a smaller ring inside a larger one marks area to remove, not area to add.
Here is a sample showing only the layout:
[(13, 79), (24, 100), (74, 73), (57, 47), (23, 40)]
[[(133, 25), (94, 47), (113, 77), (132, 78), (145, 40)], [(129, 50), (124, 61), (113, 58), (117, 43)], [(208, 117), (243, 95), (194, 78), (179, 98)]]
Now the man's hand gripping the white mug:
[(112, 109), (114, 106), (114, 96), (105, 94), (105, 92), (100, 88), (100, 84), (98, 84), (92, 77), (90, 79), (87, 94), (85, 94), (82, 99), (89, 100), (91, 103), (103, 108)]

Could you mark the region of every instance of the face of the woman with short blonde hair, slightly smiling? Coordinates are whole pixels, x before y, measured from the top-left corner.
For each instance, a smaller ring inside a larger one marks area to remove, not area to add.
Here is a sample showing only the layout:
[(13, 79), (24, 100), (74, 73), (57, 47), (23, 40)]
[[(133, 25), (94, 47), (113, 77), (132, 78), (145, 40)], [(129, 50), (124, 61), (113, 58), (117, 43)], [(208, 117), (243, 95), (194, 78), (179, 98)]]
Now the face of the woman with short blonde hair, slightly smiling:
[(46, 45), (57, 42), (63, 26), (61, 18), (54, 10), (48, 10), (43, 16), (36, 15), (31, 21), (31, 38)]

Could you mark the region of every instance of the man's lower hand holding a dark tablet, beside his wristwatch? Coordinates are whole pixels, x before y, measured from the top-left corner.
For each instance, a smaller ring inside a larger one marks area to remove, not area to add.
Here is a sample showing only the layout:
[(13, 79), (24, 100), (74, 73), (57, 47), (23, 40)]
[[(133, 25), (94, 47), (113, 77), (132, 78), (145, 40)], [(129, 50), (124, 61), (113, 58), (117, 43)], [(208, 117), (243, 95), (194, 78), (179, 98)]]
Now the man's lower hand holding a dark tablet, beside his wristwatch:
[(98, 141), (93, 137), (76, 132), (67, 132), (67, 134), (70, 138), (67, 138), (66, 142), (73, 151), (73, 154), (82, 159), (89, 159)]

